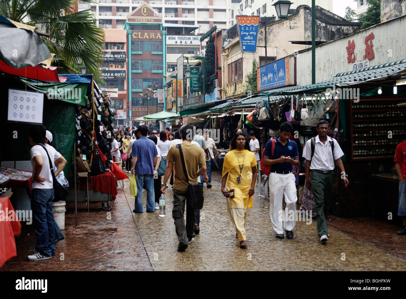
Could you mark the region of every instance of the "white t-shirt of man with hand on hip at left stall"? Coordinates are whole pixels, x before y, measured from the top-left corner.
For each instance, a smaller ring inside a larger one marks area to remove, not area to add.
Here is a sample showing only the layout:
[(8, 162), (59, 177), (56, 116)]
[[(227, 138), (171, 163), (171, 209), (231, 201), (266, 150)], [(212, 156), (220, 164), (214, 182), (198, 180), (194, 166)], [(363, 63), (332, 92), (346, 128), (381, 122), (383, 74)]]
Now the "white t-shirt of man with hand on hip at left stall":
[[(50, 155), (51, 162), (52, 162), (52, 168), (55, 167), (55, 160), (58, 159), (61, 154), (56, 151), (55, 148), (50, 146), (49, 144), (45, 144), (45, 148), (48, 151), (48, 154)], [(31, 154), (31, 165), (32, 165), (32, 185), (31, 189), (38, 188), (38, 189), (52, 189), (54, 188), (54, 183), (52, 181), (52, 174), (50, 170), (50, 162), (48, 160), (48, 155), (47, 152), (43, 149), (42, 146), (40, 145), (35, 145), (32, 146), (30, 150)], [(42, 169), (39, 175), (41, 177), (45, 177), (46, 181), (43, 182), (43, 185), (41, 183), (34, 181), (34, 176), (35, 176), (35, 160), (34, 157), (40, 155), (42, 157)]]

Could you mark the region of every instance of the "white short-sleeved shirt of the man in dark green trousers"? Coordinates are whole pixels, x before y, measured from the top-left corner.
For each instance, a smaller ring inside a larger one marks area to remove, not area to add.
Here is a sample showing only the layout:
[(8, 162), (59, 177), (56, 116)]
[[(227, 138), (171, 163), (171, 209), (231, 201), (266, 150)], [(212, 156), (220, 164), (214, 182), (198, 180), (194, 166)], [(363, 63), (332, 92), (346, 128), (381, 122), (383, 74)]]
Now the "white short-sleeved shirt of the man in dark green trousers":
[(311, 139), (307, 140), (303, 148), (302, 156), (306, 160), (311, 160), (310, 169), (334, 170), (334, 160), (330, 144), (331, 140), (334, 142), (334, 159), (337, 160), (344, 155), (337, 140), (327, 136), (327, 141), (323, 144), (320, 141), (319, 135), (317, 135), (313, 158), (311, 158)]

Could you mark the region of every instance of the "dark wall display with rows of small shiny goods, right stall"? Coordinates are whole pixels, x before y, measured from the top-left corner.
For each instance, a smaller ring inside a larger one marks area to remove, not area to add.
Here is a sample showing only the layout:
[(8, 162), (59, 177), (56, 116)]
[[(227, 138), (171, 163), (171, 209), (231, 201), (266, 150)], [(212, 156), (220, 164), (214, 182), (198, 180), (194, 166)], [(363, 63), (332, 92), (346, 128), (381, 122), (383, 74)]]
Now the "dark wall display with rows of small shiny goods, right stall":
[(351, 104), (352, 160), (393, 159), (404, 140), (405, 99), (367, 98)]

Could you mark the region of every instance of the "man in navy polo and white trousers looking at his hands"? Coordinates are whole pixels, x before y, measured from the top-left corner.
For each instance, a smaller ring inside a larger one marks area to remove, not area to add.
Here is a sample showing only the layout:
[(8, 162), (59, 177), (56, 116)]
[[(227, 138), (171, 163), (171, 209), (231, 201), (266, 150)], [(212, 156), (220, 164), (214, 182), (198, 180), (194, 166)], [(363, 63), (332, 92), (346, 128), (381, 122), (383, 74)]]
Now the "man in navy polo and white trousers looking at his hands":
[[(289, 136), (293, 132), (292, 124), (284, 122), (279, 128), (279, 136), (274, 140), (269, 140), (265, 145), (263, 153), (263, 163), (272, 165), (269, 173), (269, 215), (272, 228), (276, 233), (276, 238), (283, 239), (282, 218), (285, 218), (283, 227), (286, 231), (286, 238), (293, 238), (293, 228), (295, 227), (296, 213), (296, 184), (295, 175), (292, 173), (293, 165), (299, 166), (298, 145)], [(272, 142), (274, 150), (272, 155)], [(285, 194), (286, 208), (282, 210), (282, 196)], [(289, 217), (283, 217), (290, 215)], [(293, 215), (292, 215), (293, 214)], [(293, 218), (293, 220), (292, 220)]]

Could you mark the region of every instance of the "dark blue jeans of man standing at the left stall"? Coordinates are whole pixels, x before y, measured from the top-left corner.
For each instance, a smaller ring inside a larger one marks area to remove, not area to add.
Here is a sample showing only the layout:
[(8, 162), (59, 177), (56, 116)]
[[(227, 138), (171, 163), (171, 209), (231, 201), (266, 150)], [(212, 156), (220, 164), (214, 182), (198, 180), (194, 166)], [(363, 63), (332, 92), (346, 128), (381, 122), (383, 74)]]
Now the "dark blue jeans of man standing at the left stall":
[(32, 189), (31, 210), (37, 235), (35, 250), (45, 256), (55, 253), (54, 189)]

